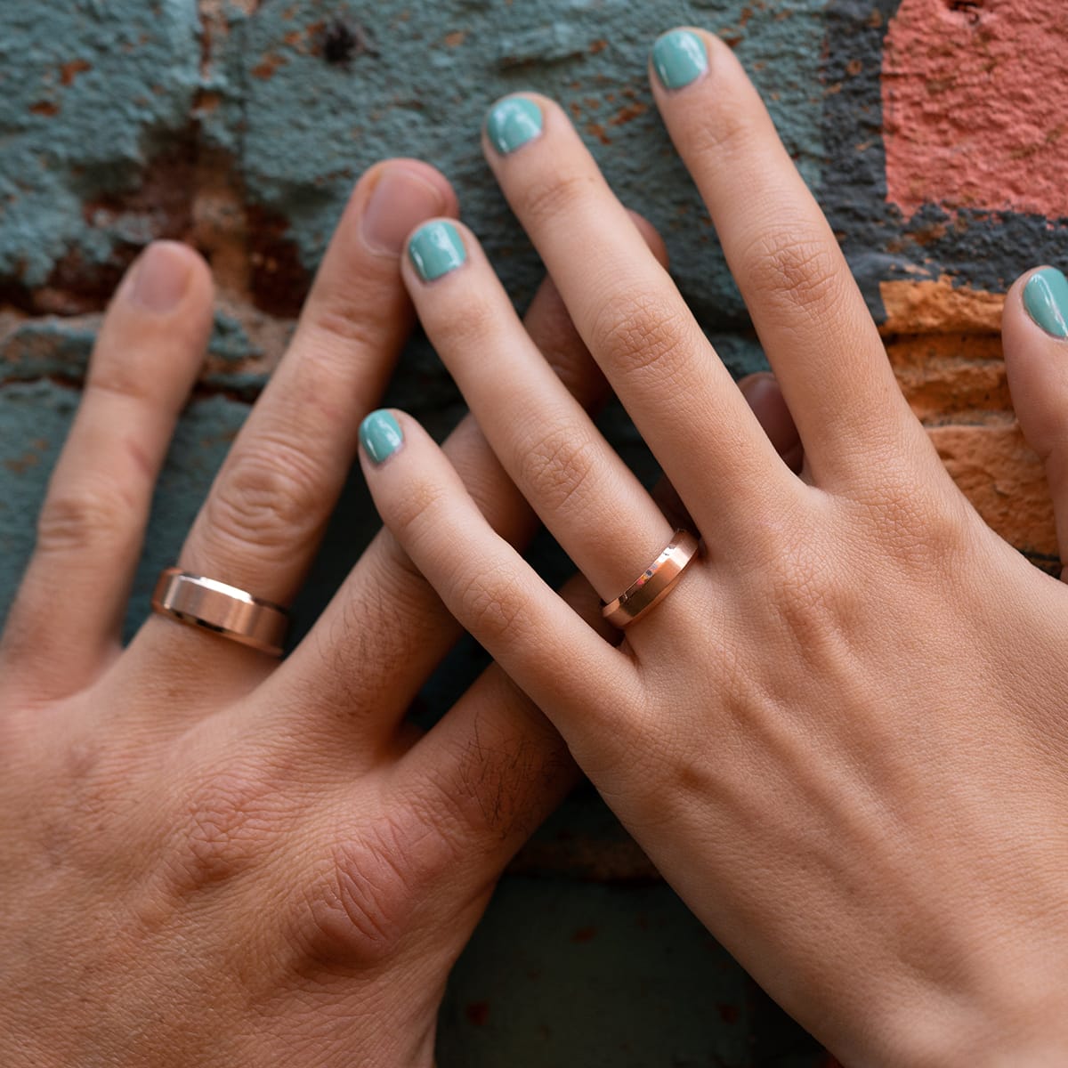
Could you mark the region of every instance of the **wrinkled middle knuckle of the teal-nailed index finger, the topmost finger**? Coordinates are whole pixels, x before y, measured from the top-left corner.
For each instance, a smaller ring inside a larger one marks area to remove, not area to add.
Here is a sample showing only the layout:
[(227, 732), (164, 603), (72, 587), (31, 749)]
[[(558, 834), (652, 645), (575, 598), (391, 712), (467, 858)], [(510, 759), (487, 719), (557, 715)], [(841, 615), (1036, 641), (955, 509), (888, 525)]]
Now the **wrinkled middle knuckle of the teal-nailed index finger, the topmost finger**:
[(800, 226), (764, 233), (743, 257), (748, 281), (781, 309), (822, 321), (845, 294), (842, 260), (829, 242), (826, 235), (804, 234)]

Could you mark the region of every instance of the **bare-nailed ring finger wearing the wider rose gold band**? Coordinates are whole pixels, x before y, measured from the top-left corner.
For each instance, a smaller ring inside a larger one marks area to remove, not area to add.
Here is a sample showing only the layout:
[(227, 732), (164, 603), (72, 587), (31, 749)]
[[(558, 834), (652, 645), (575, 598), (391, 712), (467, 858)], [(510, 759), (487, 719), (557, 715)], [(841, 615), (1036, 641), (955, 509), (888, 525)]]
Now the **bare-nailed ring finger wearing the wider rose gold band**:
[[(408, 333), (396, 269), (404, 237), (454, 209), (445, 180), (414, 160), (392, 160), (360, 180), (293, 343), (217, 475), (179, 567), (268, 601), (292, 600), (348, 474), (360, 419)], [(213, 663), (244, 663), (253, 677), (270, 666), (262, 654), (161, 617), (132, 651), (153, 671), (161, 658), (194, 657), (203, 677), (214, 675)]]

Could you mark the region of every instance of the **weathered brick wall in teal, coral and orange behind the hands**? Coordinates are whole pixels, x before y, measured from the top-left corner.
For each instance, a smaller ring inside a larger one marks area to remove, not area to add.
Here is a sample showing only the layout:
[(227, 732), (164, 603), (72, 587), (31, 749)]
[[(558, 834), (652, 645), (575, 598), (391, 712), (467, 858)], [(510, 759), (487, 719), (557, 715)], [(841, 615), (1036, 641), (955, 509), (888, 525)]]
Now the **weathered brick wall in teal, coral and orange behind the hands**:
[[(32, 540), (107, 297), (153, 237), (197, 245), (220, 287), (201, 387), (162, 480), (129, 627), (278, 360), (355, 177), (440, 166), (522, 303), (536, 257), (478, 151), (485, 108), (563, 100), (625, 201), (666, 237), (736, 373), (763, 366), (714, 234), (651, 109), (671, 26), (728, 40), (817, 191), (890, 359), (984, 516), (1055, 565), (1016, 429), (1002, 294), (1068, 258), (1062, 0), (0, 0), (0, 615)], [(455, 390), (425, 343), (391, 399), (436, 430)], [(614, 439), (645, 459), (621, 420)], [(358, 485), (297, 606), (307, 623), (377, 525)], [(428, 688), (431, 717), (476, 659)], [(520, 855), (443, 1016), (440, 1063), (802, 1065), (768, 1008), (587, 791)]]

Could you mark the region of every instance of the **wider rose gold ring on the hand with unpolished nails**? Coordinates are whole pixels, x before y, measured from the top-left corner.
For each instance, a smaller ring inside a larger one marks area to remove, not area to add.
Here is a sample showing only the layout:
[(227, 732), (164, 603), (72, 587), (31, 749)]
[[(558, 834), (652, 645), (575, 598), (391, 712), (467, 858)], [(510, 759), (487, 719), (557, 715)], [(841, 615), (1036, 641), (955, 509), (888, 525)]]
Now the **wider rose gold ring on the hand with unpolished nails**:
[(160, 574), (152, 609), (272, 657), (282, 655), (289, 625), (284, 608), (180, 567), (168, 567)]

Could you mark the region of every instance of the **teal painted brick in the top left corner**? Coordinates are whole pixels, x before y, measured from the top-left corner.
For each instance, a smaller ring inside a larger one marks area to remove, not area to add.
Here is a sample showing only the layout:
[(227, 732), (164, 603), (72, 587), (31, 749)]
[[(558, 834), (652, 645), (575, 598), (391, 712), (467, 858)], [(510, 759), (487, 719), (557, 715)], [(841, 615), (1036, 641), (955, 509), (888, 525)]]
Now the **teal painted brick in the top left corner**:
[(87, 204), (136, 187), (188, 128), (199, 26), (195, 0), (0, 5), (0, 284), (152, 236), (151, 218)]

